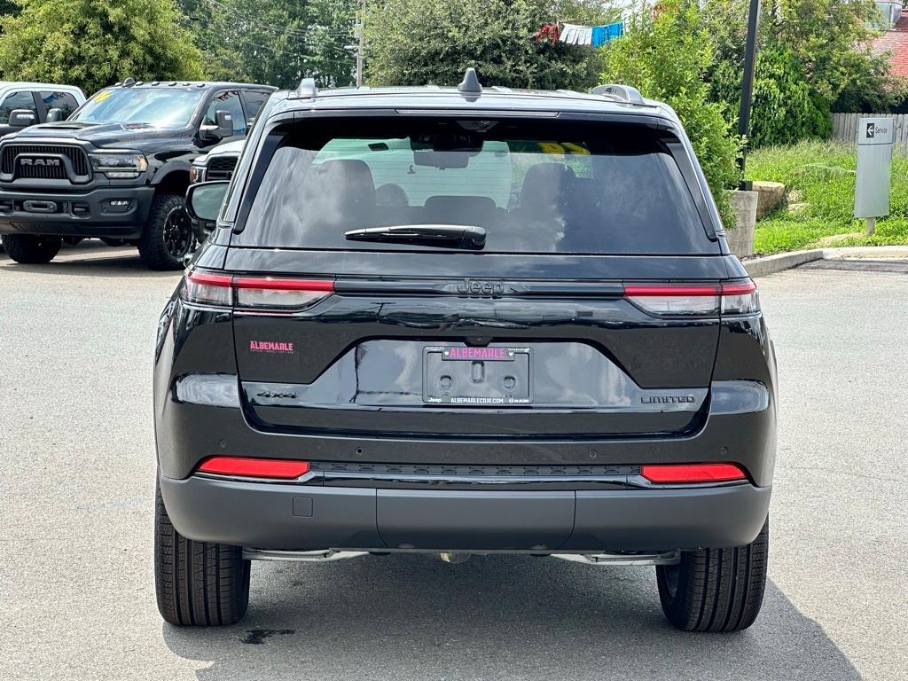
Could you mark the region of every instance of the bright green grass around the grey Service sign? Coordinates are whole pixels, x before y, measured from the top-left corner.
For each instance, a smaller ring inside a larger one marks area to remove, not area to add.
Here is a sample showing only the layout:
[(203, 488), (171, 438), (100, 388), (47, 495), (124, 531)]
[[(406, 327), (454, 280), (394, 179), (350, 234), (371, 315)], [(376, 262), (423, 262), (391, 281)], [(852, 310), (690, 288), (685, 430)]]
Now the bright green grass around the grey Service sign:
[[(797, 251), (818, 245), (879, 246), (908, 244), (908, 150), (893, 154), (890, 214), (876, 222), (873, 236), (864, 236), (864, 221), (854, 219), (856, 147), (833, 142), (802, 142), (758, 149), (747, 158), (747, 177), (785, 183), (800, 194), (801, 211), (776, 211), (756, 223), (758, 253)], [(790, 198), (791, 200), (791, 198)], [(857, 234), (834, 243), (824, 237)]]

